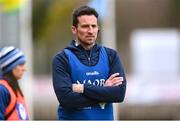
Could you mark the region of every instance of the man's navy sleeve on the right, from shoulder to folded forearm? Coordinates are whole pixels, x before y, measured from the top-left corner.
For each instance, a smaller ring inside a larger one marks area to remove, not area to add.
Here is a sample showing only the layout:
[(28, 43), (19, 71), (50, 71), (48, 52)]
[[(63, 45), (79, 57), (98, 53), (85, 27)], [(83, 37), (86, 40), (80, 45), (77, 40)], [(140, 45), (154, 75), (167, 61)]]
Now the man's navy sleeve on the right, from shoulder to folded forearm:
[(123, 83), (120, 86), (114, 87), (84, 85), (84, 95), (102, 102), (123, 102), (126, 92), (126, 77), (124, 69), (117, 52), (108, 50), (107, 53), (110, 61), (109, 76), (118, 72), (120, 73), (120, 76), (124, 78)]

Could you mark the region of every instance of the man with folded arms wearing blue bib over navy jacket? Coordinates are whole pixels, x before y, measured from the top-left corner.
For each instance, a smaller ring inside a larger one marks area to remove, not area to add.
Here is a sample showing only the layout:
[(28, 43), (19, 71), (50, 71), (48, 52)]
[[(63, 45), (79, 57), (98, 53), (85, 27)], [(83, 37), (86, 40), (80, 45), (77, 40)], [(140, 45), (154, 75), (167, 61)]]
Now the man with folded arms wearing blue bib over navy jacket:
[(98, 13), (81, 6), (73, 13), (75, 40), (53, 59), (53, 86), (60, 120), (113, 120), (113, 102), (126, 92), (117, 52), (96, 43)]

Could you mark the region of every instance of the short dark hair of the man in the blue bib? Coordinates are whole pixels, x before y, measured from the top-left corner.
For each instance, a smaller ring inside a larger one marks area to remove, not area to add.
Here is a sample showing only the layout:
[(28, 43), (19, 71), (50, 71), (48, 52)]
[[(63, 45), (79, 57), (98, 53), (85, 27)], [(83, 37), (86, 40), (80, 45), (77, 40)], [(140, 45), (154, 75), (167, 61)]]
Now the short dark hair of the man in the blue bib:
[(72, 25), (77, 27), (78, 24), (78, 17), (82, 16), (82, 15), (94, 15), (97, 19), (98, 19), (98, 13), (94, 8), (91, 8), (89, 6), (81, 6), (77, 9), (74, 10), (73, 14), (72, 14)]

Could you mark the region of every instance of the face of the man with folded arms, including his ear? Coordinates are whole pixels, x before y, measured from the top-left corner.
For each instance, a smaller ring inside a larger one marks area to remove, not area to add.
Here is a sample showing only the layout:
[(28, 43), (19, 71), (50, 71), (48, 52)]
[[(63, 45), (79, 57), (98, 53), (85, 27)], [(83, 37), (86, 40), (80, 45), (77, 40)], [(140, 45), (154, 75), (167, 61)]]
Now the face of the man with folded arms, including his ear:
[(82, 15), (78, 17), (77, 27), (72, 26), (72, 32), (76, 39), (84, 47), (92, 47), (98, 34), (97, 18), (94, 15)]

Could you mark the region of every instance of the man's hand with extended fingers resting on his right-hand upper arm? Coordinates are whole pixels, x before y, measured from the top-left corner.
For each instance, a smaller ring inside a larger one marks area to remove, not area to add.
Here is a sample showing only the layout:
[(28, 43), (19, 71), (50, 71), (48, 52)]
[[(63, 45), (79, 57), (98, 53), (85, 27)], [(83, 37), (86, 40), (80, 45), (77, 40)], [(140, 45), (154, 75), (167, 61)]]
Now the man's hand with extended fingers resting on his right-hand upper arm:
[(119, 73), (114, 73), (106, 80), (104, 86), (119, 86), (122, 81), (123, 77), (119, 77)]

